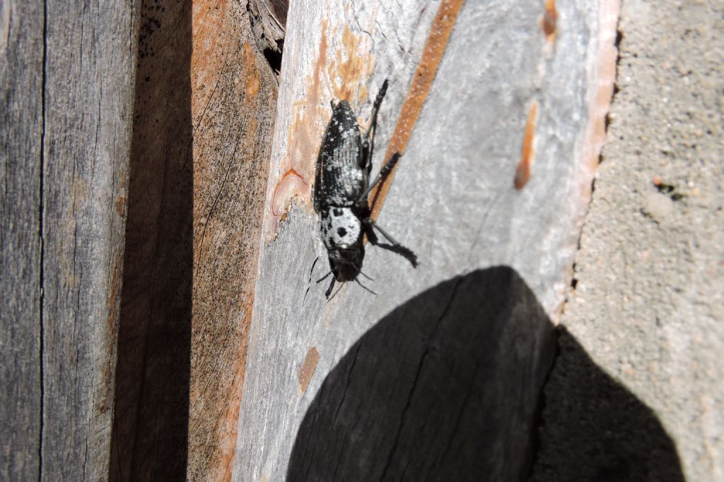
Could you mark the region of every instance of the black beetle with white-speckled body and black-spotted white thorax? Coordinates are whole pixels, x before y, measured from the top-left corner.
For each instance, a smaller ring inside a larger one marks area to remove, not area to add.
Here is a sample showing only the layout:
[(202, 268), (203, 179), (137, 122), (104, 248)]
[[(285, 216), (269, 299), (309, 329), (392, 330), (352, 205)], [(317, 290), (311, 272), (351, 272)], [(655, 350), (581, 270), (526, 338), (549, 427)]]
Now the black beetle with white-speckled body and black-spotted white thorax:
[(417, 264), (412, 251), (400, 246), (370, 218), (367, 202), (370, 191), (400, 159), (400, 153), (395, 152), (374, 181), (369, 182), (377, 113), (387, 92), (387, 84), (385, 80), (377, 94), (369, 130), (364, 137), (347, 100), (337, 103), (332, 100), (332, 119), (319, 148), (314, 181), (314, 210), (319, 215), (319, 234), (327, 248), (330, 267), (327, 275), (317, 283), (332, 275), (332, 283), (325, 293), (327, 298), (332, 293), (335, 280), (340, 283), (355, 280), (359, 283), (357, 276), (361, 273), (364, 258), (363, 235), (367, 233), (369, 240), (376, 244), (373, 226), (391, 243), (378, 246), (403, 254), (413, 266)]

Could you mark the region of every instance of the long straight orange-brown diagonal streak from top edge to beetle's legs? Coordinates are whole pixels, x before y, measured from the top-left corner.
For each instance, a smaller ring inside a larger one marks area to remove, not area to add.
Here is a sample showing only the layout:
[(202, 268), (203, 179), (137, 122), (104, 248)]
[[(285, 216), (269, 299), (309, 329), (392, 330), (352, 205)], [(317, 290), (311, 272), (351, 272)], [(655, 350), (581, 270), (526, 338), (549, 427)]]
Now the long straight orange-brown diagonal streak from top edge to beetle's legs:
[[(405, 152), (405, 147), (410, 141), (418, 116), (422, 111), (422, 106), (430, 92), (432, 81), (435, 79), (435, 74), (437, 74), (437, 67), (442, 60), (442, 55), (445, 53), (447, 41), (450, 39), (450, 33), (452, 33), (452, 28), (455, 27), (455, 20), (458, 18), (463, 3), (464, 0), (442, 0), (440, 2), (425, 43), (422, 59), (415, 71), (400, 117), (397, 119), (395, 132), (392, 134), (390, 144), (387, 145), (387, 152), (384, 155), (385, 160), (389, 159), (395, 152)], [(394, 176), (395, 170), (393, 169), (390, 176), (387, 176), (387, 179), (378, 184), (378, 187), (370, 194), (373, 219), (376, 219), (379, 211), (382, 210), (384, 198), (387, 197), (387, 191), (390, 189), (390, 182), (392, 182)]]

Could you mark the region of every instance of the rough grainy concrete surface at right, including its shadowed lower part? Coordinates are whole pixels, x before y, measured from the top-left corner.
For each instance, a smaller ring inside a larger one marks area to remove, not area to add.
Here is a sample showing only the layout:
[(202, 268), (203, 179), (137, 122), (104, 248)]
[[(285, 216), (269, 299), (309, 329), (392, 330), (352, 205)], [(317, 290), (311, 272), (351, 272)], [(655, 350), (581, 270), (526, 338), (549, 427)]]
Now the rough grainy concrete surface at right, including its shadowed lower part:
[(624, 0), (533, 478), (724, 480), (724, 2)]

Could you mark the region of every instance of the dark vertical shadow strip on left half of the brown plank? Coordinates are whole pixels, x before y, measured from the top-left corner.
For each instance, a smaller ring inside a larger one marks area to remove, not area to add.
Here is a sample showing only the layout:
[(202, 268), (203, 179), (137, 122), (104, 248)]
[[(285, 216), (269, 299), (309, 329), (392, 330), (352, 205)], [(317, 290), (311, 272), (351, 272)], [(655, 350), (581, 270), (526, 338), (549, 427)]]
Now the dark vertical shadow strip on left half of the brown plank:
[(193, 270), (191, 1), (143, 0), (109, 478), (188, 462)]

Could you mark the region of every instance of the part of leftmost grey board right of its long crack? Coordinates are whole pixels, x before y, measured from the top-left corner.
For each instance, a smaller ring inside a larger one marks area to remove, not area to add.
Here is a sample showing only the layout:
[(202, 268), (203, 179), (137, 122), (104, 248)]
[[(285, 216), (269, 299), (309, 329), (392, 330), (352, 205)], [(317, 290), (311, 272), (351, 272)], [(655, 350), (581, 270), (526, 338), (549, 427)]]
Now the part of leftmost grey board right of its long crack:
[(41, 478), (106, 478), (132, 116), (133, 6), (44, 2)]

